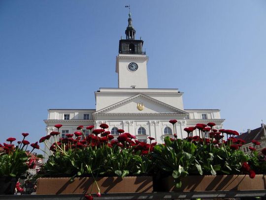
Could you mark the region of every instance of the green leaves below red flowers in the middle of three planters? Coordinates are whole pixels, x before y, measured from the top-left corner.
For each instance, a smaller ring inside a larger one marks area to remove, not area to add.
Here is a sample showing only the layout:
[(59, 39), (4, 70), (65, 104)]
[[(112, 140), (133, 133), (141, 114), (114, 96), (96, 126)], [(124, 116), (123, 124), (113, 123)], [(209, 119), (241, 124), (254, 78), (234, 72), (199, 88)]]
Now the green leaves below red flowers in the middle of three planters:
[(118, 145), (98, 148), (69, 149), (62, 153), (56, 151), (42, 166), (39, 176), (127, 176), (149, 173), (152, 161), (134, 148), (122, 148)]

